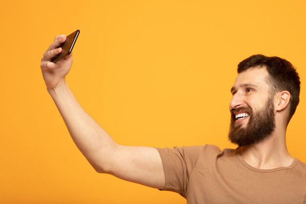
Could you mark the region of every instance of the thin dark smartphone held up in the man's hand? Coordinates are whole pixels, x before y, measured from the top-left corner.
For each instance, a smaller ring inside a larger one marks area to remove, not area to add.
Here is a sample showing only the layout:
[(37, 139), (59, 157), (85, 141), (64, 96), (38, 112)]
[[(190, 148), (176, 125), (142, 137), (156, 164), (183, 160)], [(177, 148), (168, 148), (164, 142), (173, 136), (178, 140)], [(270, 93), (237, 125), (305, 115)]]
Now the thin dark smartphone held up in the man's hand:
[(66, 41), (60, 46), (62, 47), (62, 52), (58, 55), (56, 55), (54, 58), (51, 59), (51, 62), (57, 63), (61, 59), (65, 58), (67, 55), (69, 55), (72, 52), (72, 48), (78, 39), (78, 36), (80, 34), (80, 30), (76, 30), (70, 35), (67, 36)]

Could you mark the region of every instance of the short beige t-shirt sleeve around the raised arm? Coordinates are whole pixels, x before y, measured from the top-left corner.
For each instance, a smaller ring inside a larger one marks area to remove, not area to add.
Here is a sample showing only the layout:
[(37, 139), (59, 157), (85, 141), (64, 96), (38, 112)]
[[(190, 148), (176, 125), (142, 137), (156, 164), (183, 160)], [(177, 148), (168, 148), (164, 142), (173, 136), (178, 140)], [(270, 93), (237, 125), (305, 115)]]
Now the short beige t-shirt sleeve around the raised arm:
[(204, 146), (156, 148), (163, 163), (166, 181), (165, 188), (161, 190), (174, 191), (186, 198), (189, 175), (203, 148)]

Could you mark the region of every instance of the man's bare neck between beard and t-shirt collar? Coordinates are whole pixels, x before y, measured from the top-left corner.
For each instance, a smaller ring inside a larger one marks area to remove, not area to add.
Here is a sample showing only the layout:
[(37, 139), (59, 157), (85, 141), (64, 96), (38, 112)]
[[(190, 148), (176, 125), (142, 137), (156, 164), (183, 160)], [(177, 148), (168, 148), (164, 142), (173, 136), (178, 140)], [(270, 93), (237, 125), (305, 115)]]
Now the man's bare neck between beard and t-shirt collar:
[(245, 162), (258, 169), (286, 167), (294, 160), (286, 147), (285, 130), (276, 130), (260, 143), (241, 147), (240, 154)]

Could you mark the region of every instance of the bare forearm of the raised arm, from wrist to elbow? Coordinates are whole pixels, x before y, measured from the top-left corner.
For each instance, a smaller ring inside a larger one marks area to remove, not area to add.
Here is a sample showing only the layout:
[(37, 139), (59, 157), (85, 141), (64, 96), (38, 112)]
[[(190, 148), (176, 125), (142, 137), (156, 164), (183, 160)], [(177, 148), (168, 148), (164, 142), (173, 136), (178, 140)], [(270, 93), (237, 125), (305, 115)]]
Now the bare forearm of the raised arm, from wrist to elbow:
[(77, 102), (66, 81), (48, 90), (61, 113), (68, 131), (83, 155), (98, 172), (108, 170), (110, 156), (116, 148), (111, 137)]

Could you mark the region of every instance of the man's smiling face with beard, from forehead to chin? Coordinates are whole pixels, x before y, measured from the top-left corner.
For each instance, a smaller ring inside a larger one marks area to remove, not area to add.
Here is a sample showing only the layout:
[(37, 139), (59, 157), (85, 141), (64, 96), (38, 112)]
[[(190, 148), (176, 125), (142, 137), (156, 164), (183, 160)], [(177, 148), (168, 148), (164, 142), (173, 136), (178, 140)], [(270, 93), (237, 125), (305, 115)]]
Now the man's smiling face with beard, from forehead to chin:
[(229, 140), (239, 146), (256, 144), (275, 129), (273, 95), (265, 68), (241, 72), (231, 90)]

